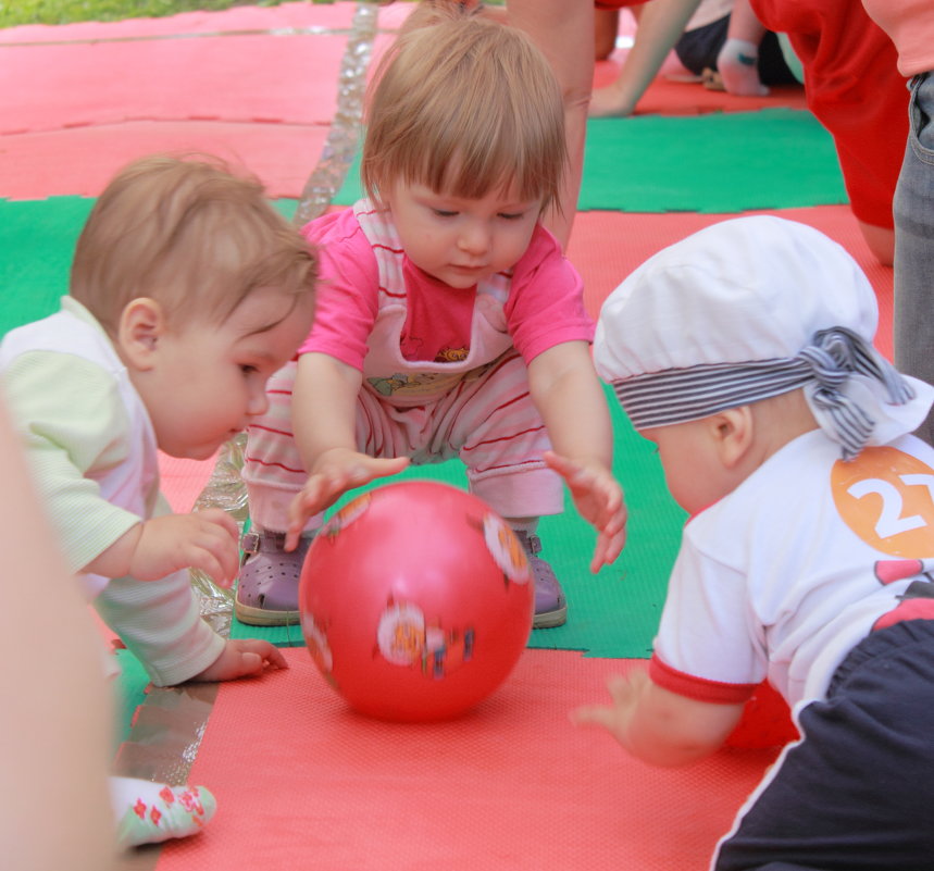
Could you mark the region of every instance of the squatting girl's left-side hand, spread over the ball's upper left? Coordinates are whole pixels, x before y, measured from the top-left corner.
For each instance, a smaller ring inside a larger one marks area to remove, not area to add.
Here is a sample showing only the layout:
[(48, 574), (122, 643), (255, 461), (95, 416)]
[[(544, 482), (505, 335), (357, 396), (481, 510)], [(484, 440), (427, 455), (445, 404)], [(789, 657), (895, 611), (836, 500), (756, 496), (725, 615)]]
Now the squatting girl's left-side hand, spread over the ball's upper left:
[(408, 464), (408, 457), (382, 460), (345, 448), (334, 448), (322, 453), (301, 493), (288, 508), (285, 549), (294, 550), (309, 519), (334, 505), (347, 490), (361, 487), (377, 477), (395, 475)]

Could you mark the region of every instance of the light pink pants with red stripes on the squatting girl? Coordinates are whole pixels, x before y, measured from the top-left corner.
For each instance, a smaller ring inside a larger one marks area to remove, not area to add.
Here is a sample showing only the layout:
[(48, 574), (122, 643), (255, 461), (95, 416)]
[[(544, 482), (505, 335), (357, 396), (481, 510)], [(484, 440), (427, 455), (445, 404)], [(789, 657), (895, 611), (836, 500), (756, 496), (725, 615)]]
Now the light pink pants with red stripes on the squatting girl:
[[(296, 364), (270, 378), (270, 409), (247, 431), (244, 481), (250, 519), (283, 532), (287, 509), (308, 477), (291, 431)], [(545, 465), (550, 447), (528, 394), (525, 363), (510, 351), (421, 406), (395, 406), (364, 387), (357, 402), (357, 446), (371, 457), (411, 457), (414, 464), (460, 457), (470, 489), (503, 518), (559, 514), (560, 477)], [(474, 377), (476, 374), (476, 377)], [(309, 530), (322, 518), (313, 518)]]

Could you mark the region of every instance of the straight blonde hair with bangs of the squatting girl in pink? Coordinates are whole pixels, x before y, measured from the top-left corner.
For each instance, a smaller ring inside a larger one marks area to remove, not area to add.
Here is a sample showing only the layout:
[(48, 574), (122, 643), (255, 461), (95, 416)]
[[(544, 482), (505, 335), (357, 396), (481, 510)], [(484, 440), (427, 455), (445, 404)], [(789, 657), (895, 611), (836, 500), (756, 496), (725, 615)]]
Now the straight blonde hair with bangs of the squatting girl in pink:
[(520, 30), (422, 0), (368, 94), (361, 177), (376, 202), (397, 182), (480, 199), (515, 186), (557, 203), (566, 164), (561, 89)]

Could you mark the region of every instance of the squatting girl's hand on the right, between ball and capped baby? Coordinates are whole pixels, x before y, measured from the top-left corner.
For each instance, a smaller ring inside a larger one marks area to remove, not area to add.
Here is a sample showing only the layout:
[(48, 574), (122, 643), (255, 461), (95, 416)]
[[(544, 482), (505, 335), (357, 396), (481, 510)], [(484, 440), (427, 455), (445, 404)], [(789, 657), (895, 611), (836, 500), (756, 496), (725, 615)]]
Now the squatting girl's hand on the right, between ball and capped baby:
[(568, 484), (581, 517), (599, 533), (590, 571), (609, 565), (626, 542), (626, 507), (623, 489), (602, 463), (581, 463), (555, 451), (545, 451), (545, 462)]

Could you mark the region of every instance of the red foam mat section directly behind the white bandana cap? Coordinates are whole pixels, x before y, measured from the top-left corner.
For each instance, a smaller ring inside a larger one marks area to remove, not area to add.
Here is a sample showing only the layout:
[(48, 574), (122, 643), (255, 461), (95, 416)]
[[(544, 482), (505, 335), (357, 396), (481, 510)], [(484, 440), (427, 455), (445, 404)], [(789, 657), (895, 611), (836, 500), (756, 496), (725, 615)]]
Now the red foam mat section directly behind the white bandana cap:
[[(892, 358), (892, 269), (872, 256), (848, 206), (815, 206), (747, 214), (775, 214), (825, 233), (849, 251), (875, 288), (876, 347)], [(668, 245), (734, 214), (578, 212), (568, 257), (584, 276), (587, 309), (595, 318), (607, 296), (636, 266)]]

